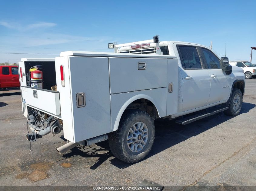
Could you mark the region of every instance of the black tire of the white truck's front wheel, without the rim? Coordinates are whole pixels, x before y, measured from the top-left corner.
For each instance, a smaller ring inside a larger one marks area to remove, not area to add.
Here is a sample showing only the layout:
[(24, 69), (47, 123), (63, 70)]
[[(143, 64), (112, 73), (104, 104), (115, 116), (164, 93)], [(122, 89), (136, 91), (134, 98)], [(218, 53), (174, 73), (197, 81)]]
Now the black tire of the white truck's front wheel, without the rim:
[[(235, 110), (233, 107), (233, 103), (234, 103), (234, 97), (238, 95), (240, 98), (240, 102), (239, 102), (239, 106), (238, 108)], [(241, 90), (239, 90), (238, 88), (234, 88), (232, 91), (232, 95), (231, 95), (231, 100), (228, 106), (228, 110), (225, 110), (224, 113), (228, 116), (237, 116), (242, 108), (242, 103), (243, 103), (243, 94), (241, 92)]]

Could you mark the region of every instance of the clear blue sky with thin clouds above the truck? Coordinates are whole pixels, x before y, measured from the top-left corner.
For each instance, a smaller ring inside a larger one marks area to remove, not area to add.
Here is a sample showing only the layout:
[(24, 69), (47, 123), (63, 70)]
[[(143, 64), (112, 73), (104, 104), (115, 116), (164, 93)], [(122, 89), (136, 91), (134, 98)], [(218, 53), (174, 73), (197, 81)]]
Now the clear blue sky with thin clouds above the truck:
[[(0, 63), (57, 57), (62, 51), (113, 52), (108, 43), (152, 39), (210, 46), (249, 60), (256, 46), (256, 1), (1, 1)], [(40, 53), (49, 55), (3, 54)], [(55, 55), (56, 54), (56, 55)], [(256, 63), (256, 51), (252, 63)]]

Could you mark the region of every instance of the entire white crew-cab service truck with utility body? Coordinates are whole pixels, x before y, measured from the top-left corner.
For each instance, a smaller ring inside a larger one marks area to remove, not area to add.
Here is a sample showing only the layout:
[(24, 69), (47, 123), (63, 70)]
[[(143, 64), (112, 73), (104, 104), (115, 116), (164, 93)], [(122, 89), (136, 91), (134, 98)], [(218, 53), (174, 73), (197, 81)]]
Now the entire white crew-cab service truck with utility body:
[[(114, 47), (18, 62), (30, 143), (63, 129), (69, 142), (57, 148), (61, 154), (108, 139), (117, 158), (134, 163), (151, 150), (157, 118), (185, 125), (221, 111), (239, 114), (244, 72), (206, 46), (148, 40)], [(31, 87), (36, 80), (42, 88)]]

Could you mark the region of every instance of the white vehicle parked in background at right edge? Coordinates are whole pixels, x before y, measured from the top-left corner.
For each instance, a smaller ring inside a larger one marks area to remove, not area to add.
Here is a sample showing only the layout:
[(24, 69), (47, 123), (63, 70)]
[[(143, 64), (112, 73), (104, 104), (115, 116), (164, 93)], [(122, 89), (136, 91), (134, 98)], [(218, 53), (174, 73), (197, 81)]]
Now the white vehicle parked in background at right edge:
[(244, 69), (244, 75), (246, 79), (251, 77), (256, 77), (256, 66), (248, 61), (231, 61), (229, 62), (231, 66), (238, 66)]

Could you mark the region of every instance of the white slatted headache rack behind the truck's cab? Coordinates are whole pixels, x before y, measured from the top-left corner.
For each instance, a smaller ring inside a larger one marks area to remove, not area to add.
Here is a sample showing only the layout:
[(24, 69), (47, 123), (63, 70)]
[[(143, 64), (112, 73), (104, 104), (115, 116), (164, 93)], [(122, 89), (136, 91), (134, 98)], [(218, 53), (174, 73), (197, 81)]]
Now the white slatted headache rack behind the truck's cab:
[(133, 54), (156, 54), (157, 47), (153, 40), (144, 40), (134, 43), (115, 45), (116, 53), (133, 53)]

